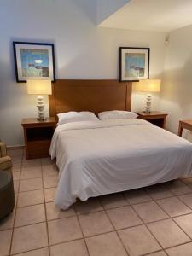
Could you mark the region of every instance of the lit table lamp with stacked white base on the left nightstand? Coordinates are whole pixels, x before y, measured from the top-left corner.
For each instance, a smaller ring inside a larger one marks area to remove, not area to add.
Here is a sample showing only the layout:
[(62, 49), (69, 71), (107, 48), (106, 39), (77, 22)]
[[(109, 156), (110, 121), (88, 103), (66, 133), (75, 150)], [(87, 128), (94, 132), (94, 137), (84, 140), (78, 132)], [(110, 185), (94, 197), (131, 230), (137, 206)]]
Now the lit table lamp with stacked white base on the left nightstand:
[(45, 112), (44, 112), (44, 97), (42, 95), (52, 94), (51, 80), (36, 80), (30, 79), (27, 80), (27, 93), (28, 94), (37, 94), (37, 107), (38, 107), (38, 120), (44, 121)]

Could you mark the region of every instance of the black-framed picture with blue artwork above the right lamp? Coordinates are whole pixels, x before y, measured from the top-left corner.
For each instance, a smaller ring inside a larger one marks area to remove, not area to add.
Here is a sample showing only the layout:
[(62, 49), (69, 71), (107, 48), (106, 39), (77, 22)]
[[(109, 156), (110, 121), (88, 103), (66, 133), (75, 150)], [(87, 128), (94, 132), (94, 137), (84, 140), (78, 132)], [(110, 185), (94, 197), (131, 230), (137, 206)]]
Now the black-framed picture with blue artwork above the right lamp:
[(149, 48), (119, 48), (119, 81), (149, 78)]

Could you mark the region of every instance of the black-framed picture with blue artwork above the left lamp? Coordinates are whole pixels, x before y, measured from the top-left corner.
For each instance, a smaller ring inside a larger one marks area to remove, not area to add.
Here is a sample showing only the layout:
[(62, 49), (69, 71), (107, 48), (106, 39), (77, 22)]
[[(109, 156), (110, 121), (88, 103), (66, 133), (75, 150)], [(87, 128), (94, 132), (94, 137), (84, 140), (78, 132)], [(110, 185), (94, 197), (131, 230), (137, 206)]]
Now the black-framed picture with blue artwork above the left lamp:
[(13, 42), (18, 83), (27, 79), (55, 81), (54, 44)]

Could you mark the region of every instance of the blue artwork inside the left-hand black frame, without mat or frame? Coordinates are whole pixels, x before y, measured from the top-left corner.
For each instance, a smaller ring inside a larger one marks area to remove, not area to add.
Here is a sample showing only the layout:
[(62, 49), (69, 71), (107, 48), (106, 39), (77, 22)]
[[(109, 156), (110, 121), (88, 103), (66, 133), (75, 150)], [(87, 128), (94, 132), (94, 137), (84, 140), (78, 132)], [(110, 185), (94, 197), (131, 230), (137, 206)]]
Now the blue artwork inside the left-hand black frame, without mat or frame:
[(20, 49), (23, 77), (49, 77), (48, 49)]

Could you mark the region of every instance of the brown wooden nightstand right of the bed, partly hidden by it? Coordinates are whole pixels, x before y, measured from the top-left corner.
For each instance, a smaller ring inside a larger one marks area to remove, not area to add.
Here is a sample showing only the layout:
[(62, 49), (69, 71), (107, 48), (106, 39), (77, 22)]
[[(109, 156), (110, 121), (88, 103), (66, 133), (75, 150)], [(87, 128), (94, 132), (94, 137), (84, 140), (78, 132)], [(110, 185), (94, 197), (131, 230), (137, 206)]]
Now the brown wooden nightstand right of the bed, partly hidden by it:
[(166, 125), (166, 116), (167, 113), (162, 113), (158, 111), (152, 111), (151, 113), (143, 113), (143, 112), (136, 112), (138, 114), (138, 119), (144, 119), (148, 122), (159, 126), (160, 128), (165, 128)]

